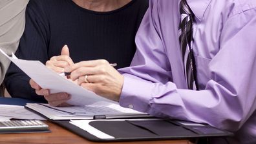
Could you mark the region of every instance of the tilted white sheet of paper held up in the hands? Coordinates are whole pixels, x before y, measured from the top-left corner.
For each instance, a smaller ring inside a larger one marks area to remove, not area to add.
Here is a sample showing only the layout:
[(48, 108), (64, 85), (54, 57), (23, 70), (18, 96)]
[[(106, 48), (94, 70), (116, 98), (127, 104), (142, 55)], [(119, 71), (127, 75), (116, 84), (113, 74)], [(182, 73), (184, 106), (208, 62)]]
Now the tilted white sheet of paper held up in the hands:
[(42, 88), (47, 88), (52, 94), (58, 92), (67, 92), (72, 98), (67, 101), (70, 105), (89, 105), (97, 101), (109, 101), (109, 99), (98, 96), (94, 92), (86, 90), (85, 88), (76, 85), (67, 78), (59, 76), (56, 72), (48, 69), (40, 61), (28, 61), (23, 59), (17, 59), (17, 57), (7, 56), (3, 50), (0, 49), (10, 61), (21, 68), (31, 79), (36, 81)]

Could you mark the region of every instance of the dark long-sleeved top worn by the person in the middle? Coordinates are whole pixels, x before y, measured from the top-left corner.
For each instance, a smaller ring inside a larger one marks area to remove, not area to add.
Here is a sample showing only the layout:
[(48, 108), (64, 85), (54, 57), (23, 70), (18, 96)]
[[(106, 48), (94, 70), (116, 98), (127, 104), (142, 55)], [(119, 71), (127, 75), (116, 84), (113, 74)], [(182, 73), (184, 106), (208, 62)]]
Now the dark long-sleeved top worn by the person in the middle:
[[(98, 3), (103, 2), (104, 5), (98, 9), (94, 3), (87, 5), (88, 2), (30, 0), (25, 32), (16, 56), (46, 63), (51, 57), (59, 56), (61, 48), (68, 45), (74, 63), (107, 59), (110, 63), (118, 63), (116, 68), (128, 67), (136, 50), (134, 37), (148, 1), (101, 0)], [(29, 80), (12, 63), (6, 74), (5, 86), (12, 97), (45, 101), (30, 87)]]

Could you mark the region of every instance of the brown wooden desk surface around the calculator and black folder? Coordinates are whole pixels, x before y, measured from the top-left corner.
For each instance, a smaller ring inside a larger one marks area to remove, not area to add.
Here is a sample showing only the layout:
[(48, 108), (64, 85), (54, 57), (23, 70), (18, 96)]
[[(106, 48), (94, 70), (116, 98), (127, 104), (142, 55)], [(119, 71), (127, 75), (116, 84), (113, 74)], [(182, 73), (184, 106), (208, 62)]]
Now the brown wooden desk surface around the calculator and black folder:
[[(65, 130), (62, 127), (50, 122), (46, 122), (50, 130), (50, 133), (33, 133), (33, 134), (0, 134), (0, 143), (5, 144), (17, 144), (17, 143), (35, 143), (35, 144), (57, 144), (57, 143), (71, 143), (71, 144), (97, 144), (87, 139), (81, 138), (80, 136)], [(133, 142), (113, 142), (114, 144), (192, 144), (188, 140), (169, 140), (169, 141), (133, 141)]]

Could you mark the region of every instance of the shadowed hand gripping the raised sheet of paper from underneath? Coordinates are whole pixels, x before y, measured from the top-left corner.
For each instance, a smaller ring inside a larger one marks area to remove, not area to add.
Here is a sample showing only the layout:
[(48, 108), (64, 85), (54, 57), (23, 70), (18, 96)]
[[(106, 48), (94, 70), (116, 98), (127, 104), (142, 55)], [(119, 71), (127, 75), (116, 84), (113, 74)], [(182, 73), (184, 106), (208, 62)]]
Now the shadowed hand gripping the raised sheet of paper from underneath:
[(30, 86), (36, 90), (36, 94), (39, 96), (44, 96), (48, 103), (54, 107), (64, 107), (69, 106), (66, 101), (68, 101), (71, 97), (69, 94), (65, 92), (50, 94), (50, 90), (43, 89), (33, 79), (29, 81)]

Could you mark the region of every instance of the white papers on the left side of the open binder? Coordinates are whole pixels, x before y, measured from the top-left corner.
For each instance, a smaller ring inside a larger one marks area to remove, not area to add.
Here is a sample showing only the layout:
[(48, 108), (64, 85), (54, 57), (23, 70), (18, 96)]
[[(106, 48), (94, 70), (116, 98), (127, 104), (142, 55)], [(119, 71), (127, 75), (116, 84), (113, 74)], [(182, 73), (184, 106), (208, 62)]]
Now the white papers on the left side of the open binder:
[(52, 107), (42, 103), (27, 103), (25, 106), (39, 112), (52, 120), (64, 119), (114, 119), (114, 118), (144, 118), (149, 114), (138, 112), (131, 108), (123, 108), (116, 103), (100, 101), (92, 105), (72, 107)]

